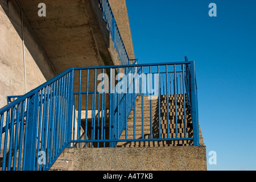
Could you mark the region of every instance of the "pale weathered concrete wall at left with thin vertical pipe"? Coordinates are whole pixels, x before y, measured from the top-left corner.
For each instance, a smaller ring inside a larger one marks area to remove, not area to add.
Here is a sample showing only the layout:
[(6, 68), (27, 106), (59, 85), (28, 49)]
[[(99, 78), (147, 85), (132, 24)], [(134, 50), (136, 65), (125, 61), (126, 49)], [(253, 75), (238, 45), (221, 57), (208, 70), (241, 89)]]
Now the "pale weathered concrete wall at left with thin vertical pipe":
[[(23, 13), (27, 92), (54, 77), (46, 52)], [(25, 93), (22, 20), (15, 0), (0, 0), (0, 108), (6, 97)]]

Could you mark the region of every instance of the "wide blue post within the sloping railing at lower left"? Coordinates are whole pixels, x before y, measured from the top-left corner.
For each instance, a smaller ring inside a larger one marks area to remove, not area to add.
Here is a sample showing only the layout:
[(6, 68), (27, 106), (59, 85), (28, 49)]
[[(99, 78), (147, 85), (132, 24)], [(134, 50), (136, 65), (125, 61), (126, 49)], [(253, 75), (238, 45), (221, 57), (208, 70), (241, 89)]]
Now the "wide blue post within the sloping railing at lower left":
[(24, 155), (26, 156), (25, 159), (25, 163), (24, 163), (24, 169), (25, 171), (34, 171), (34, 167), (35, 167), (35, 155), (33, 153), (33, 151), (35, 150), (35, 143), (36, 143), (36, 138), (35, 138), (35, 128), (36, 128), (36, 105), (38, 102), (38, 92), (36, 91), (35, 94), (33, 94), (30, 97), (30, 102), (28, 102), (27, 104), (28, 106), (28, 110), (27, 110), (27, 136), (26, 136), (26, 152), (24, 153)]

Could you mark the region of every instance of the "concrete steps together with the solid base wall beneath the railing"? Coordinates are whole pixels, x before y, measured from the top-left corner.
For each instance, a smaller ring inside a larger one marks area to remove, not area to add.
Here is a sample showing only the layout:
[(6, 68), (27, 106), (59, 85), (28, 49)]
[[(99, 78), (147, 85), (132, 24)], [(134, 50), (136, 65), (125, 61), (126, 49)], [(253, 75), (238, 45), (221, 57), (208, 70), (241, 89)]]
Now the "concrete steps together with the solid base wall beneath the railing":
[[(169, 96), (169, 125), (170, 125), (170, 137), (176, 137), (176, 125), (175, 125), (175, 99), (174, 95)], [(187, 108), (187, 103), (186, 108)], [(160, 106), (158, 105), (158, 100), (152, 100), (152, 137), (159, 138), (159, 118), (161, 122), (161, 137), (164, 138), (167, 136), (167, 101), (166, 96), (161, 96), (160, 98)], [(135, 126), (135, 138), (142, 138), (142, 97), (138, 96), (136, 100), (135, 106), (135, 114), (136, 114), (136, 126)], [(160, 107), (160, 117), (159, 117), (159, 107)], [(134, 110), (131, 110), (127, 121), (127, 139), (134, 138)], [(186, 109), (186, 126), (187, 126), (187, 137), (193, 137), (193, 128), (191, 121), (191, 114)], [(144, 138), (150, 138), (150, 100), (148, 100), (148, 96), (144, 97)], [(184, 137), (184, 114), (183, 114), (183, 95), (177, 94), (177, 133), (178, 137)], [(129, 167), (135, 165), (135, 168), (131, 168), (131, 170), (142, 169), (142, 166), (147, 165), (148, 169), (159, 169), (159, 166), (166, 161), (166, 159), (172, 160), (180, 160), (184, 158), (184, 160), (189, 159), (187, 163), (191, 164), (191, 170), (197, 168), (197, 166), (206, 166), (206, 157), (205, 151), (200, 152), (201, 149), (204, 149), (203, 137), (201, 134), (201, 129), (199, 125), (199, 138), (200, 144), (202, 146), (189, 146), (193, 144), (192, 140), (188, 141), (150, 141), (150, 142), (118, 142), (117, 147), (120, 150), (116, 150), (117, 148), (106, 148), (100, 145), (100, 148), (97, 148), (96, 143), (93, 144), (93, 148), (66, 148), (64, 152), (60, 155), (60, 157), (56, 160), (50, 170), (60, 170), (60, 171), (68, 171), (68, 170), (88, 170), (93, 168), (93, 170), (106, 170), (106, 169), (125, 169), (127, 170)], [(125, 139), (125, 130), (123, 130), (120, 139)], [(167, 147), (167, 146), (175, 146), (175, 147)], [(184, 147), (183, 147), (184, 146)], [(156, 147), (156, 148), (154, 148)], [(200, 149), (201, 148), (201, 149)], [(162, 152), (162, 150), (170, 150), (168, 152)], [(176, 152), (180, 150), (179, 152)], [(187, 151), (189, 150), (189, 151)], [(191, 151), (190, 151), (191, 150)], [(174, 155), (168, 157), (172, 152)], [(185, 154), (189, 154), (188, 156), (184, 156)], [(196, 154), (195, 159), (190, 159), (191, 155)], [(180, 155), (180, 156), (179, 156)], [(114, 156), (114, 157), (113, 157)], [(117, 157), (118, 156), (118, 157)], [(158, 156), (158, 157), (156, 157)], [(167, 158), (166, 158), (167, 156)], [(200, 156), (200, 157), (198, 157)], [(163, 158), (163, 160), (159, 160), (159, 157)], [(83, 158), (83, 159), (80, 159)], [(141, 160), (143, 158), (143, 160)], [(203, 158), (203, 160), (199, 160), (199, 158)], [(118, 159), (115, 161), (114, 159)], [(120, 159), (120, 162), (119, 162)], [(156, 159), (155, 162), (152, 162), (152, 159)], [(100, 160), (100, 161), (98, 161)], [(104, 164), (103, 161), (108, 164), (107, 166), (102, 167)], [(114, 162), (113, 162), (114, 160)], [(124, 162), (127, 160), (126, 162)], [(138, 162), (139, 161), (139, 162)], [(84, 162), (80, 164), (81, 162)], [(173, 161), (172, 161), (173, 163)], [(196, 164), (198, 163), (198, 164)], [(126, 164), (126, 165), (123, 165)], [(117, 165), (117, 166), (114, 166)], [(139, 166), (142, 165), (142, 166)], [(154, 168), (152, 165), (156, 165)], [(168, 164), (170, 165), (170, 164)], [(178, 163), (173, 163), (173, 166), (170, 170), (189, 170), (187, 166), (184, 164), (185, 168), (179, 166), (180, 161)], [(123, 168), (121, 168), (123, 167)], [(164, 168), (167, 169), (167, 168)], [(205, 170), (206, 167), (199, 170)]]

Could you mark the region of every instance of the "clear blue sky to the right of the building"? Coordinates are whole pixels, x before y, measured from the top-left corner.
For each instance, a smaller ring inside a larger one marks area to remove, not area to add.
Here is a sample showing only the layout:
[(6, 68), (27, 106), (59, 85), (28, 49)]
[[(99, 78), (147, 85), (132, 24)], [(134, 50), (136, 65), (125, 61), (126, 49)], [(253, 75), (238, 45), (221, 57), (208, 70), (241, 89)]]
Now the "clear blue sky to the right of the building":
[(195, 60), (208, 170), (256, 170), (256, 1), (126, 3), (139, 63)]

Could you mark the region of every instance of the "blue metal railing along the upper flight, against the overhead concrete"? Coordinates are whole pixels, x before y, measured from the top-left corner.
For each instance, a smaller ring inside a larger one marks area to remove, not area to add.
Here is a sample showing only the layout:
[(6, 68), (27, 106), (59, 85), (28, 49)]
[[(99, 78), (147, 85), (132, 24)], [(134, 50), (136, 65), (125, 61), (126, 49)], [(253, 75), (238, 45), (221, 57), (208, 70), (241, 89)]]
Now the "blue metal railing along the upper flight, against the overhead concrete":
[(110, 32), (110, 37), (114, 42), (114, 48), (117, 51), (117, 56), (121, 61), (121, 65), (130, 64), (130, 59), (123, 43), (121, 34), (119, 32), (117, 22), (115, 22), (115, 17), (113, 11), (110, 7), (108, 0), (98, 0), (100, 4), (100, 9), (103, 13), (103, 19), (107, 23), (107, 28)]

